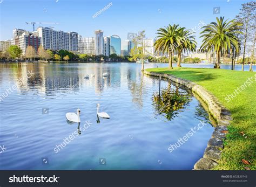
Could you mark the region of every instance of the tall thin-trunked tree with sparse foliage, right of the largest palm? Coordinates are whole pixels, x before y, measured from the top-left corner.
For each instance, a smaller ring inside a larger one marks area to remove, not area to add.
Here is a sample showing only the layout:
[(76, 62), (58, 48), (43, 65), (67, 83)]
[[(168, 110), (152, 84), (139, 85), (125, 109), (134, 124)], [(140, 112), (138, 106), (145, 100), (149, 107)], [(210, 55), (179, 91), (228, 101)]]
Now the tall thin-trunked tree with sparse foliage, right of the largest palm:
[(245, 53), (247, 42), (250, 38), (254, 39), (255, 22), (256, 22), (256, 2), (249, 2), (242, 4), (239, 15), (237, 15), (238, 22), (242, 23), (241, 31), (244, 33), (242, 36), (243, 53), (242, 53), (242, 71), (244, 71)]

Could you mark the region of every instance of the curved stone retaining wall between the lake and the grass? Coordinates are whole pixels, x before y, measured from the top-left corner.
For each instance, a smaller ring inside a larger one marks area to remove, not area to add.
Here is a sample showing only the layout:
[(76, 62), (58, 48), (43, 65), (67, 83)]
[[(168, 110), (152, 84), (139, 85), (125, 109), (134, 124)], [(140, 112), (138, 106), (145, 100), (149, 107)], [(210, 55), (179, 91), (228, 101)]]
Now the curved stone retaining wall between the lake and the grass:
[(196, 93), (207, 104), (208, 111), (212, 114), (218, 125), (215, 127), (212, 137), (208, 141), (203, 158), (200, 158), (200, 160), (194, 164), (194, 170), (209, 170), (218, 165), (224, 146), (223, 141), (226, 137), (226, 133), (228, 133), (227, 126), (232, 120), (230, 111), (221, 105), (217, 98), (215, 98), (213, 94), (206, 91), (203, 86), (197, 85), (190, 80), (181, 79), (170, 74), (148, 71), (144, 71), (144, 74), (167, 78), (173, 82), (184, 85)]

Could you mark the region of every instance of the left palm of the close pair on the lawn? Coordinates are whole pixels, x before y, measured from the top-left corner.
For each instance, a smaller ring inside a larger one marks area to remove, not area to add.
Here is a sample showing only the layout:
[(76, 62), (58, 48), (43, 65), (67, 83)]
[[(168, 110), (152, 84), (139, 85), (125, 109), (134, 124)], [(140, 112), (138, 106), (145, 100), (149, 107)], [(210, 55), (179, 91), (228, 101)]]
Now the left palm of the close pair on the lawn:
[(169, 68), (172, 69), (172, 54), (180, 45), (181, 35), (176, 24), (165, 26), (157, 31), (157, 40), (154, 43), (155, 52), (169, 54)]

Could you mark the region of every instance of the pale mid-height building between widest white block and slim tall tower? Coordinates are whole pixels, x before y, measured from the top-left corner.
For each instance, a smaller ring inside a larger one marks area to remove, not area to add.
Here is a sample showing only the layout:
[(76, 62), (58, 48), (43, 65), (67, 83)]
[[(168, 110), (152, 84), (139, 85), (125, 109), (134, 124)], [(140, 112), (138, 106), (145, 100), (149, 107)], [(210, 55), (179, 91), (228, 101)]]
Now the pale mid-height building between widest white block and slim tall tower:
[(78, 37), (78, 52), (81, 54), (95, 54), (94, 37)]

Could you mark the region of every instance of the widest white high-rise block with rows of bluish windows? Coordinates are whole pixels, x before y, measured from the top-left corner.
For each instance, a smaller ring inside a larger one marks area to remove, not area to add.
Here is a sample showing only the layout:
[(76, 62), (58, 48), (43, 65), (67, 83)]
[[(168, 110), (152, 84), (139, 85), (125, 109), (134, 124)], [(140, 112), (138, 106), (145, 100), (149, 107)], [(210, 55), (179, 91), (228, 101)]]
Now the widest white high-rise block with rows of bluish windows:
[(42, 38), (44, 49), (78, 51), (78, 33), (56, 31), (49, 27), (38, 27), (33, 32)]

